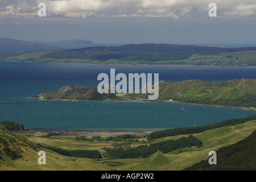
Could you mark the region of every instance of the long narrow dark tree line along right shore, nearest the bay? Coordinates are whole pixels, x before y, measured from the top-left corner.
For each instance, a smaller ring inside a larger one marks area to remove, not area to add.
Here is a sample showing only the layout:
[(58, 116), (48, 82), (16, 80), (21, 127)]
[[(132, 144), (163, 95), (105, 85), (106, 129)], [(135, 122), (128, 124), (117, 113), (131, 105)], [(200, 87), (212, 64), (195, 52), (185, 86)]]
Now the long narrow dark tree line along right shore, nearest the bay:
[(187, 135), (187, 134), (195, 134), (195, 133), (201, 133), (207, 130), (217, 129), (219, 127), (223, 126), (234, 126), (239, 125), (242, 123), (245, 123), (247, 121), (256, 120), (256, 114), (250, 115), (246, 118), (240, 118), (240, 119), (226, 119), (224, 121), (208, 124), (205, 126), (196, 126), (196, 127), (180, 127), (177, 129), (167, 129), (167, 130), (161, 130), (161, 131), (155, 131), (151, 134), (148, 134), (147, 139), (157, 139), (157, 138), (163, 138), (163, 137), (172, 137), (176, 135)]

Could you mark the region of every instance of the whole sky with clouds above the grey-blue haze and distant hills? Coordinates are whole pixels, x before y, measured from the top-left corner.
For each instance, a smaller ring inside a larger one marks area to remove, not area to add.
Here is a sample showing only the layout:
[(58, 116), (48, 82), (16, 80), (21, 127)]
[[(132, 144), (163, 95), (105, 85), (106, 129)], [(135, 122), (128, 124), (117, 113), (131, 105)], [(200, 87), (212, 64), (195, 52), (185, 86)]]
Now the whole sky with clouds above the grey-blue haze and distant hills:
[(256, 46), (255, 32), (255, 0), (0, 0), (0, 38)]

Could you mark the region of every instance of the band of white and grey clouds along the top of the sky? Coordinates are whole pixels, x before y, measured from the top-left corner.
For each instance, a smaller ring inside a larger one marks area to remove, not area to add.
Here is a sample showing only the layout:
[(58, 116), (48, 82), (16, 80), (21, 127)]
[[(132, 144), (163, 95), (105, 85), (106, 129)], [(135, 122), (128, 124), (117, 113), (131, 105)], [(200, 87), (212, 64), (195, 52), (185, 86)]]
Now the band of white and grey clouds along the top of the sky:
[[(47, 5), (48, 14), (88, 16), (154, 16), (188, 18), (207, 16), (209, 3), (217, 5), (219, 16), (255, 16), (255, 0), (1, 0), (0, 15), (36, 14), (38, 3)], [(11, 8), (10, 8), (11, 7)]]

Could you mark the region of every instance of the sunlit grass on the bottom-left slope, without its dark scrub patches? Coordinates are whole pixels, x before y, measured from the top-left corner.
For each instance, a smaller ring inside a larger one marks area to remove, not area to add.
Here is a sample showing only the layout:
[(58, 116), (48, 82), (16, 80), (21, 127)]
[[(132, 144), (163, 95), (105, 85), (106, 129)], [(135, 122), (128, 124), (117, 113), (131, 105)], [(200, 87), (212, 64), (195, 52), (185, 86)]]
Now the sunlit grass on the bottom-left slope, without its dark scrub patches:
[(92, 159), (86, 158), (72, 158), (66, 157), (55, 152), (46, 151), (46, 165), (38, 164), (38, 151), (33, 148), (24, 146), (24, 142), (20, 139), (14, 139), (15, 142), (11, 142), (9, 139), (13, 138), (12, 135), (0, 128), (0, 137), (5, 138), (9, 142), (8, 146), (13, 149), (20, 150), (22, 158), (12, 160), (10, 156), (3, 150), (3, 144), (0, 142), (0, 171), (34, 171), (34, 170), (50, 170), (50, 171), (63, 171), (63, 170), (111, 170), (104, 164), (95, 163)]

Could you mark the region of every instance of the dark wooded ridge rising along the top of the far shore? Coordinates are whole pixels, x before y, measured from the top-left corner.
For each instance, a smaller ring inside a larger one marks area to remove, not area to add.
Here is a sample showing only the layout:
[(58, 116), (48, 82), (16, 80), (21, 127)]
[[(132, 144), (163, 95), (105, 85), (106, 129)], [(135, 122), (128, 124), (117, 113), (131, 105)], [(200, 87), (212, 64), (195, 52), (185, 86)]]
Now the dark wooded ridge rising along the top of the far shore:
[(116, 47), (88, 47), (82, 49), (61, 50), (48, 53), (42, 57), (54, 59), (88, 59), (88, 60), (120, 60), (120, 61), (167, 61), (182, 60), (197, 53), (199, 55), (212, 55), (224, 52), (256, 51), (255, 47), (221, 48), (180, 46), (172, 44), (127, 44)]

